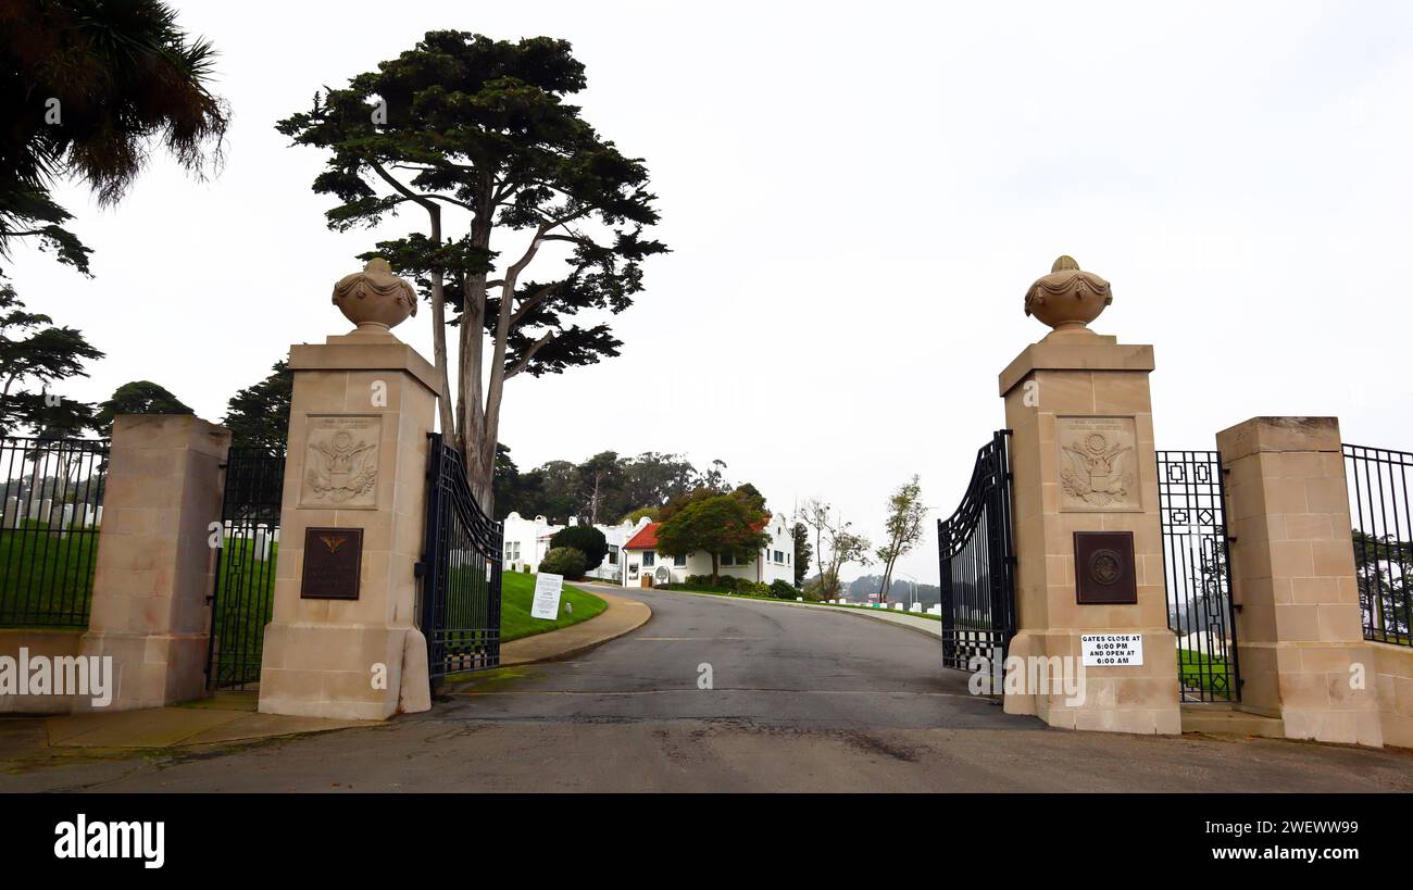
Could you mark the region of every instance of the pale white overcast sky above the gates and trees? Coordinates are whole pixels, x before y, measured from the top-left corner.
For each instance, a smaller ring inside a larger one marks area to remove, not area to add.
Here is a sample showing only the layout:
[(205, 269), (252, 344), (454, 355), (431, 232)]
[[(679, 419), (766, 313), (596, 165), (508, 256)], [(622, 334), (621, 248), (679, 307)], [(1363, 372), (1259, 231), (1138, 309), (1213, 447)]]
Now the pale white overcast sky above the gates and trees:
[[(431, 28), (551, 35), (585, 117), (646, 160), (673, 253), (623, 355), (507, 386), (521, 468), (598, 451), (714, 458), (770, 507), (818, 494), (875, 540), (920, 473), (948, 513), (1003, 424), (996, 374), (1056, 256), (1106, 277), (1095, 329), (1153, 343), (1159, 448), (1332, 414), (1413, 451), (1413, 6), (1399, 3), (178, 1), (215, 41), (223, 172), (155, 162), (116, 209), (61, 199), (86, 280), (17, 251), (31, 308), (107, 353), (65, 393), (154, 380), (208, 420), (290, 343), (348, 324), (355, 254), (324, 161), (273, 124)], [(396, 333), (431, 355), (430, 312)], [(935, 537), (900, 565), (935, 583)], [(855, 572), (856, 574), (856, 569)]]

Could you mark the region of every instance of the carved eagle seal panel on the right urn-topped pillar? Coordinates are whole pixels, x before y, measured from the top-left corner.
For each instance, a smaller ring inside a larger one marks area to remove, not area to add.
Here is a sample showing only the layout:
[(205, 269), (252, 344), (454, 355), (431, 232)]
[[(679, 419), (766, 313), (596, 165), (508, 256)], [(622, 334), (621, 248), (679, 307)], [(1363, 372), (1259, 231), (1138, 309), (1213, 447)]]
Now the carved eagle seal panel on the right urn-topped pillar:
[(1142, 510), (1132, 417), (1057, 417), (1061, 510)]

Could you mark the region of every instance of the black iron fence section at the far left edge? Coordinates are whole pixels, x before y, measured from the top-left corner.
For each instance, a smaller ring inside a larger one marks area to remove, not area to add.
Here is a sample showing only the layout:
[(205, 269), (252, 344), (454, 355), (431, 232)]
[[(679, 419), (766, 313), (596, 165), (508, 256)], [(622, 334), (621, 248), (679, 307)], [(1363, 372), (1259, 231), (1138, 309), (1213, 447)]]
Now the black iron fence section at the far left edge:
[(107, 439), (0, 439), (0, 627), (88, 627)]

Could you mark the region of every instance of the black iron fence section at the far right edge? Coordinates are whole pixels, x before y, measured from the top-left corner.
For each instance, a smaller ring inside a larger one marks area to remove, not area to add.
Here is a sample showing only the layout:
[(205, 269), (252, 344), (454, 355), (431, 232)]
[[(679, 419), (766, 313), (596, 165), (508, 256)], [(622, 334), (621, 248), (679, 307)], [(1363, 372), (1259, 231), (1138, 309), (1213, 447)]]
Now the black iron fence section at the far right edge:
[(1413, 516), (1409, 470), (1413, 453), (1365, 445), (1344, 446), (1354, 566), (1364, 612), (1364, 636), (1413, 646)]

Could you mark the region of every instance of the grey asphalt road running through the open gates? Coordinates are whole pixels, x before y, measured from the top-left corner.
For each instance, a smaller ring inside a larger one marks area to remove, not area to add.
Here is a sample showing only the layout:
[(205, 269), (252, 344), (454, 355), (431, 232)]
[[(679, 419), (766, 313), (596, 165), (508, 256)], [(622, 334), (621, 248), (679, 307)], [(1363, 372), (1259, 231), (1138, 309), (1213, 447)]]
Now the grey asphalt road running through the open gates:
[(639, 630), (574, 661), (482, 675), (430, 713), (37, 769), (0, 790), (1413, 791), (1406, 752), (1051, 730), (969, 695), (937, 640), (906, 627), (642, 595), (653, 619)]

